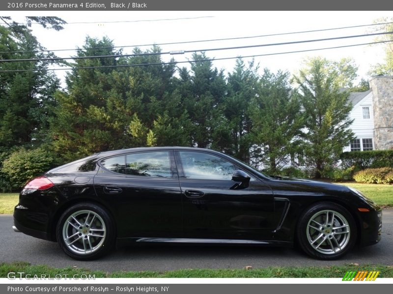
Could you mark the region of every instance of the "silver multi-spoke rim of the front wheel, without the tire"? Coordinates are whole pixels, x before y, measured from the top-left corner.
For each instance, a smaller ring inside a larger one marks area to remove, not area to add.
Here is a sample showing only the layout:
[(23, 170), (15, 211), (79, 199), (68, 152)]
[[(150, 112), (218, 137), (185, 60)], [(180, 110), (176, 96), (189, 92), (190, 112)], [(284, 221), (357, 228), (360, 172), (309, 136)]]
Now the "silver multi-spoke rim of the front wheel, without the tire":
[(349, 222), (337, 211), (322, 210), (307, 224), (307, 239), (312, 248), (323, 254), (335, 254), (349, 243)]

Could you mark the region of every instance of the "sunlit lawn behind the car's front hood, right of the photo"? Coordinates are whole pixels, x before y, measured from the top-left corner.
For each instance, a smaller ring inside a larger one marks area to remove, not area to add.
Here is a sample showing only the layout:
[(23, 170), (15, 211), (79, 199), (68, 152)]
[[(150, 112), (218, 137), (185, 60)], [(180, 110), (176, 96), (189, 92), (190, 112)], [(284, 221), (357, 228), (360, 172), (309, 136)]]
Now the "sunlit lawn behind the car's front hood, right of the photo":
[(355, 188), (382, 206), (393, 206), (393, 185), (363, 184), (356, 182), (337, 183)]

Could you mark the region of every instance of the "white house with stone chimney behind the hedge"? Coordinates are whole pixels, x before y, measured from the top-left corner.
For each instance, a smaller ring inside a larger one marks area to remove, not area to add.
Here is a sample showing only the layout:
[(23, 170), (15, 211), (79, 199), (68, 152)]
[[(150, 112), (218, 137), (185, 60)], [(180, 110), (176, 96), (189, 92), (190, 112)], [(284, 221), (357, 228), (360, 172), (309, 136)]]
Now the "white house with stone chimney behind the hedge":
[(393, 149), (393, 77), (372, 78), (370, 90), (351, 93), (349, 100), (356, 139), (344, 151)]

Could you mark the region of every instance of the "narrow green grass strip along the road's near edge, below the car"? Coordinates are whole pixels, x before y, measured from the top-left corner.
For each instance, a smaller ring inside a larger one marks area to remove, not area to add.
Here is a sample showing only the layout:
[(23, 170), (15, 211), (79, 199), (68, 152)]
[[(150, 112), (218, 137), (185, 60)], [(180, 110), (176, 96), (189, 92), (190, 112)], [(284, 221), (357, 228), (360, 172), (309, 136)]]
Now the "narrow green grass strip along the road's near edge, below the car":
[(8, 272), (25, 272), (30, 275), (62, 274), (95, 275), (96, 278), (342, 278), (347, 271), (379, 270), (378, 277), (392, 278), (393, 266), (350, 264), (331, 267), (269, 267), (261, 269), (239, 270), (172, 270), (172, 271), (114, 271), (86, 270), (78, 268), (55, 269), (48, 266), (31, 266), (25, 262), (0, 264), (0, 278), (7, 277)]

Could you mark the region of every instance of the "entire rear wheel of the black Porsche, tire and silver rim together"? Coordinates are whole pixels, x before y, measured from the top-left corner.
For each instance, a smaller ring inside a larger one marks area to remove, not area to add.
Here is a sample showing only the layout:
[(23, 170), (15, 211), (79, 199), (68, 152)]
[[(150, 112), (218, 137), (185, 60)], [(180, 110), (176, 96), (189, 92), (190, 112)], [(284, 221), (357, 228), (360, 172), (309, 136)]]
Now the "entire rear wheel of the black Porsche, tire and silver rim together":
[(115, 240), (112, 218), (100, 205), (79, 203), (61, 215), (56, 226), (61, 249), (78, 260), (96, 259), (108, 253)]

